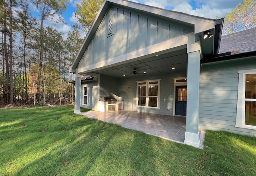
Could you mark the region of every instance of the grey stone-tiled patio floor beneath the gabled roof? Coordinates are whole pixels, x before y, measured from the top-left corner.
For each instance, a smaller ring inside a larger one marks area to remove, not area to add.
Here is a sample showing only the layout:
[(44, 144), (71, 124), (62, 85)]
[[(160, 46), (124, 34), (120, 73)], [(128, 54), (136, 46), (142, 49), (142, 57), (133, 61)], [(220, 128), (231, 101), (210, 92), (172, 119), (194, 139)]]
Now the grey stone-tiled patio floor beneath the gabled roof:
[[(88, 118), (96, 118), (104, 122), (118, 124), (132, 130), (142, 131), (166, 140), (184, 144), (186, 117), (150, 114), (129, 110), (99, 112), (81, 112)], [(200, 146), (204, 148), (205, 130), (199, 129)]]

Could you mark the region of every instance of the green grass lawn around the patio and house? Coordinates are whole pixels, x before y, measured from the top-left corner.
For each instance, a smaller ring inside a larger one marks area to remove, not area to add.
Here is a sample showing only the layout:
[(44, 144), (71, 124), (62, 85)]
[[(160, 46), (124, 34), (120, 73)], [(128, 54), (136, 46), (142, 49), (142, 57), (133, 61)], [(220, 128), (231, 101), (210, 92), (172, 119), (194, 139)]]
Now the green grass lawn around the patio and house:
[(76, 115), (73, 108), (1, 109), (0, 175), (256, 175), (255, 137), (207, 131), (201, 150)]

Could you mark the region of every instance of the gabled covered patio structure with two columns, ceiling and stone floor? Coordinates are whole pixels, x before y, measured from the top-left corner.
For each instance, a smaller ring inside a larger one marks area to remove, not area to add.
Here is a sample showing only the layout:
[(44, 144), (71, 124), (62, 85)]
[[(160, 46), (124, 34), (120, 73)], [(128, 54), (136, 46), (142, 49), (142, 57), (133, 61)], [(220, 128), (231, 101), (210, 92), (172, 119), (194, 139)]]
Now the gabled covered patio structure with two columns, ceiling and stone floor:
[[(222, 22), (105, 0), (69, 69), (76, 74), (74, 113), (81, 106), (99, 111), (106, 97), (114, 97), (126, 113), (92, 116), (200, 148), (200, 60), (218, 53)], [(95, 80), (82, 84), (82, 76)], [(170, 115), (186, 119), (180, 124)]]

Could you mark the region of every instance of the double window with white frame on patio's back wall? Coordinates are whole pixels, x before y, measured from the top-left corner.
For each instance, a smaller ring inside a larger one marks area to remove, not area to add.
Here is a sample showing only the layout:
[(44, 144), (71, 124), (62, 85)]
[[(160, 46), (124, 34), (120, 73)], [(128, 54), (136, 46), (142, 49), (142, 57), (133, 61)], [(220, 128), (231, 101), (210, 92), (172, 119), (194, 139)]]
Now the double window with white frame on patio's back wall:
[(137, 106), (159, 108), (160, 80), (137, 82)]

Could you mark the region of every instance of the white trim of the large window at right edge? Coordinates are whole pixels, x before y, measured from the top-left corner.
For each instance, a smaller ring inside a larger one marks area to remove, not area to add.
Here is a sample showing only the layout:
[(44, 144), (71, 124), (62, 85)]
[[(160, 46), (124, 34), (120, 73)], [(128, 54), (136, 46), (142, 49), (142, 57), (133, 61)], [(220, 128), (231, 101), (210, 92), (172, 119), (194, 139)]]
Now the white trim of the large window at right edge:
[(256, 130), (256, 126), (246, 125), (245, 122), (245, 101), (256, 101), (256, 99), (245, 98), (245, 75), (256, 74), (256, 69), (252, 70), (239, 70), (238, 71), (238, 96), (237, 96), (237, 108), (236, 108), (236, 125), (238, 128), (247, 128)]

